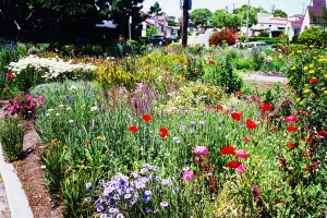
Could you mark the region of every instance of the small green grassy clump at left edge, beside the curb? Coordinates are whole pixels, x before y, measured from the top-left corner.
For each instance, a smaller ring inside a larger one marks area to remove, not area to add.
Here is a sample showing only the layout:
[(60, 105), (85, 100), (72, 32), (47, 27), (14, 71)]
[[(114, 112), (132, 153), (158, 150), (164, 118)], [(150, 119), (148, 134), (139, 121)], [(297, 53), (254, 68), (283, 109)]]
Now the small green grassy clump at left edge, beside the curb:
[(4, 157), (9, 161), (19, 160), (22, 157), (25, 128), (17, 119), (8, 117), (0, 126), (0, 142)]

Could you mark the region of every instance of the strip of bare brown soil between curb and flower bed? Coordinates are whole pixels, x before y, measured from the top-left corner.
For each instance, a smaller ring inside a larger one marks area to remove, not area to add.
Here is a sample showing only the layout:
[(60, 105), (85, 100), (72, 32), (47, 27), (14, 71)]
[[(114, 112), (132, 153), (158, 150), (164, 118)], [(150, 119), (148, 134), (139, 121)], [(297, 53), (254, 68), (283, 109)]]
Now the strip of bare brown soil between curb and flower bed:
[[(5, 102), (0, 101), (0, 110)], [(55, 205), (44, 185), (45, 172), (39, 161), (40, 142), (37, 133), (29, 130), (24, 136), (26, 156), (14, 162), (19, 178), (28, 198), (35, 218), (61, 218), (63, 207)]]

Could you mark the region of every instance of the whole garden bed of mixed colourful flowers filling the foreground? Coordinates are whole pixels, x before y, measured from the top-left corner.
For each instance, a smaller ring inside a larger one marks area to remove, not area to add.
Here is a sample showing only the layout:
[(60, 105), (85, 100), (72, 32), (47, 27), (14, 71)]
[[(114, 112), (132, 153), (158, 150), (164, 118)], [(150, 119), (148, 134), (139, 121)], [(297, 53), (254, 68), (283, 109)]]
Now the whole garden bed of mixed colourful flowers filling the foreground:
[[(2, 43), (0, 55), (4, 155), (22, 158), (36, 130), (65, 217), (327, 213), (326, 49), (171, 45), (113, 58)], [(286, 73), (288, 90), (246, 87), (251, 70)]]

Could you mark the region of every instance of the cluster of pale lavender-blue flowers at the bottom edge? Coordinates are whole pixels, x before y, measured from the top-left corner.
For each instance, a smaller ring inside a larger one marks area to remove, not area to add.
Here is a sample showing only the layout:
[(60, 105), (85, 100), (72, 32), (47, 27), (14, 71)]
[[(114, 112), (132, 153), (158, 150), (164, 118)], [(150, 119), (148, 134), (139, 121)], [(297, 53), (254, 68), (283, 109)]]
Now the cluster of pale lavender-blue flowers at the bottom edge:
[[(174, 178), (161, 179), (159, 168), (145, 164), (140, 171), (134, 171), (131, 177), (124, 175), (121, 172), (116, 173), (108, 182), (99, 180), (99, 185), (104, 186), (101, 196), (95, 202), (98, 213), (101, 213), (101, 218), (108, 217), (125, 217), (122, 210), (128, 208), (142, 208), (147, 214), (156, 214), (158, 208), (152, 208), (149, 205), (155, 203), (150, 201), (155, 193), (162, 193), (174, 183)], [(92, 191), (93, 185), (86, 184), (86, 189)], [(172, 189), (175, 193), (178, 189)], [(157, 197), (157, 196), (156, 196)], [(86, 198), (90, 202), (90, 197)], [(168, 207), (167, 202), (160, 202), (160, 207)]]

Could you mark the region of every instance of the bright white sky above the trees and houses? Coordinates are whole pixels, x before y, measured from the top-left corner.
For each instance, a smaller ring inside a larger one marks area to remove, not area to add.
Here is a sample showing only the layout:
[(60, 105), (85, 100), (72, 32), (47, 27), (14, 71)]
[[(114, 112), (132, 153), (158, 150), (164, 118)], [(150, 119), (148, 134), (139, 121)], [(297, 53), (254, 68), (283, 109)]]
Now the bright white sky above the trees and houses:
[[(162, 12), (168, 15), (181, 16), (180, 0), (144, 0), (143, 10), (148, 11), (154, 3), (158, 1)], [(253, 7), (262, 7), (271, 12), (272, 7), (284, 11), (288, 15), (302, 14), (311, 0), (250, 0)], [(194, 9), (209, 9), (215, 12), (217, 9), (226, 9), (231, 12), (233, 7), (241, 8), (247, 4), (247, 0), (192, 0), (192, 10)]]

